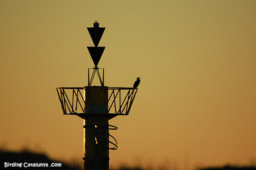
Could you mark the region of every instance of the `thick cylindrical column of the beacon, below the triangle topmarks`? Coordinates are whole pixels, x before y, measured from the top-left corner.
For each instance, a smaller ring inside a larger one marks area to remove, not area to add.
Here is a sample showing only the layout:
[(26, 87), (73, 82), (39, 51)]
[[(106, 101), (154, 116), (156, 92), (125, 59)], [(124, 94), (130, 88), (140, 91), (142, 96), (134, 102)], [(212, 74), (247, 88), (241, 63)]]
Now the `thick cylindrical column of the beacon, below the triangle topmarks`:
[(108, 87), (85, 87), (84, 169), (109, 169)]

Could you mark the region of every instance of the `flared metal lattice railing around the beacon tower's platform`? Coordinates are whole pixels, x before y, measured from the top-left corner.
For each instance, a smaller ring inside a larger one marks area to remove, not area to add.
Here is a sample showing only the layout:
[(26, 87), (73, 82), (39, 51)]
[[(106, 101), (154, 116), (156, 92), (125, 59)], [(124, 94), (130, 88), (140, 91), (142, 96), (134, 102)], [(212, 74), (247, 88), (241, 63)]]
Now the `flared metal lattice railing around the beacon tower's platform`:
[[(84, 100), (85, 88), (56, 88), (60, 99), (63, 114), (83, 114), (86, 110)], [(132, 103), (136, 96), (137, 88), (108, 88), (108, 111), (109, 114), (129, 114)], [(101, 98), (100, 88), (95, 95)], [(102, 104), (104, 104), (102, 100)], [(94, 104), (93, 104), (94, 105)], [(104, 104), (105, 105), (105, 104)], [(93, 111), (93, 107), (91, 112)], [(90, 112), (88, 112), (90, 114)]]

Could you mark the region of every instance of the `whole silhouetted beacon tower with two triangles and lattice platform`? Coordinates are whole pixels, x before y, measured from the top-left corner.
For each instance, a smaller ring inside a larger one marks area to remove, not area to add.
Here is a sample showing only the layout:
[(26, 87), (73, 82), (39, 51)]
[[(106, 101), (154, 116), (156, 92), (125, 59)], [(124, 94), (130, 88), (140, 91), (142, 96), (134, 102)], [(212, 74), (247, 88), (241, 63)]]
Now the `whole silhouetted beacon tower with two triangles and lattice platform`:
[[(109, 125), (108, 120), (129, 114), (138, 89), (104, 86), (104, 68), (98, 68), (98, 63), (105, 47), (98, 45), (105, 27), (99, 27), (95, 21), (93, 27), (87, 29), (95, 45), (87, 47), (95, 65), (88, 68), (88, 86), (57, 88), (57, 92), (63, 113), (84, 119), (84, 169), (109, 169), (109, 149), (117, 149), (116, 139), (109, 134), (109, 130), (116, 130), (117, 127)], [(95, 75), (100, 86), (92, 86)], [(109, 137), (115, 143), (109, 141)], [(109, 148), (109, 143), (113, 147)]]

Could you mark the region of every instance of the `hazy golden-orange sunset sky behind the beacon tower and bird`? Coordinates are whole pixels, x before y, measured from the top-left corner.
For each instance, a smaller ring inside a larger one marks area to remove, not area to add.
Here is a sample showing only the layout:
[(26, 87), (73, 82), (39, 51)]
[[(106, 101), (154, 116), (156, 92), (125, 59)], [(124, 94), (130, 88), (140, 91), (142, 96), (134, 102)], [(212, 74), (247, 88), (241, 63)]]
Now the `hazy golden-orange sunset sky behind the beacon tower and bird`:
[(256, 158), (256, 1), (234, 0), (0, 0), (1, 147), (83, 157), (83, 120), (62, 115), (56, 87), (87, 85), (95, 20), (106, 86), (143, 77), (130, 115), (109, 121), (111, 165)]

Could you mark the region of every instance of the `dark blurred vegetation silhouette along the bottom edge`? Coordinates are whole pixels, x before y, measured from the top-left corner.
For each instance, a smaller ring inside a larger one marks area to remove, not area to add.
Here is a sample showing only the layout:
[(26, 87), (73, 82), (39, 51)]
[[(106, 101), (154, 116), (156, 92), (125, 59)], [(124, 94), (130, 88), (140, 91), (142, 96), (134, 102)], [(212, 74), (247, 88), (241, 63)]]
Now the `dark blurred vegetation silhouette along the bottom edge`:
[[(82, 160), (81, 160), (82, 161)], [(3, 150), (0, 149), (0, 169), (33, 169), (29, 167), (8, 167), (4, 168), (4, 162), (17, 162), (17, 163), (24, 163), (24, 162), (29, 162), (29, 163), (48, 163), (51, 165), (51, 163), (61, 163), (61, 167), (36, 167), (36, 169), (70, 169), (70, 170), (79, 170), (83, 169), (81, 167), (81, 164), (77, 164), (76, 161), (73, 164), (67, 164), (60, 162), (58, 160), (52, 160), (49, 158), (45, 153), (35, 153), (33, 151), (24, 149), (22, 151), (8, 151), (8, 150)], [(223, 167), (202, 167), (202, 168), (197, 168), (196, 170), (256, 170), (256, 166), (223, 166)], [(113, 168), (109, 168), (110, 170), (114, 170)], [(138, 165), (138, 166), (127, 166), (125, 164), (121, 164), (115, 170), (151, 170), (151, 169), (162, 169), (162, 170), (182, 170), (179, 169), (175, 166), (170, 166), (168, 165), (168, 162), (166, 164), (161, 164), (160, 166), (154, 166), (150, 168), (150, 165), (148, 165), (146, 168)], [(187, 169), (184, 169), (187, 170)]]

